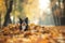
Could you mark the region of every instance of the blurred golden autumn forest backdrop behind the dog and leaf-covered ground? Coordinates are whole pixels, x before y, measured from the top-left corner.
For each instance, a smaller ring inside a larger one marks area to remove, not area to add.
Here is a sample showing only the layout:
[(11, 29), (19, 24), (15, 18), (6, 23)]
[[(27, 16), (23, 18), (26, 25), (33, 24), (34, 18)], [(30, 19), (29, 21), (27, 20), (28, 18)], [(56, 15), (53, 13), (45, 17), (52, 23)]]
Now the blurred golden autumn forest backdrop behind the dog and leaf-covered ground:
[(29, 24), (65, 25), (65, 0), (0, 0), (0, 27), (3, 26), (10, 1), (13, 1), (12, 11), (9, 14), (12, 24), (17, 24), (17, 17), (28, 17)]

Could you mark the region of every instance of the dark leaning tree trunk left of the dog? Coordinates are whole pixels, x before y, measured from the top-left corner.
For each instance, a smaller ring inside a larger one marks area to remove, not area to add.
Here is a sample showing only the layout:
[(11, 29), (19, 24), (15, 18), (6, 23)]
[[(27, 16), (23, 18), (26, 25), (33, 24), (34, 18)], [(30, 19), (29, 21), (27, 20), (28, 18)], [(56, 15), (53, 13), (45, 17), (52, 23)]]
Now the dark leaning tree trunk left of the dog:
[(10, 18), (10, 13), (12, 12), (12, 5), (13, 5), (13, 0), (5, 0), (5, 6), (6, 6), (6, 14), (4, 17), (4, 24), (3, 26), (8, 26), (11, 24), (11, 18)]

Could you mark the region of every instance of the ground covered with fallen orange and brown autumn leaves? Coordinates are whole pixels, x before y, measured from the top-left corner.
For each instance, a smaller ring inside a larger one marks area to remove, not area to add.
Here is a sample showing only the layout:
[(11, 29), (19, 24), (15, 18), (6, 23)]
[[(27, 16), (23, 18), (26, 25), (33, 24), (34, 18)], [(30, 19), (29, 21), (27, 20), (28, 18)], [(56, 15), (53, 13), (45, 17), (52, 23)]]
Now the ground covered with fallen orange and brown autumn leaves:
[(9, 25), (0, 31), (0, 43), (65, 43), (65, 26), (29, 25), (21, 31), (18, 25)]

